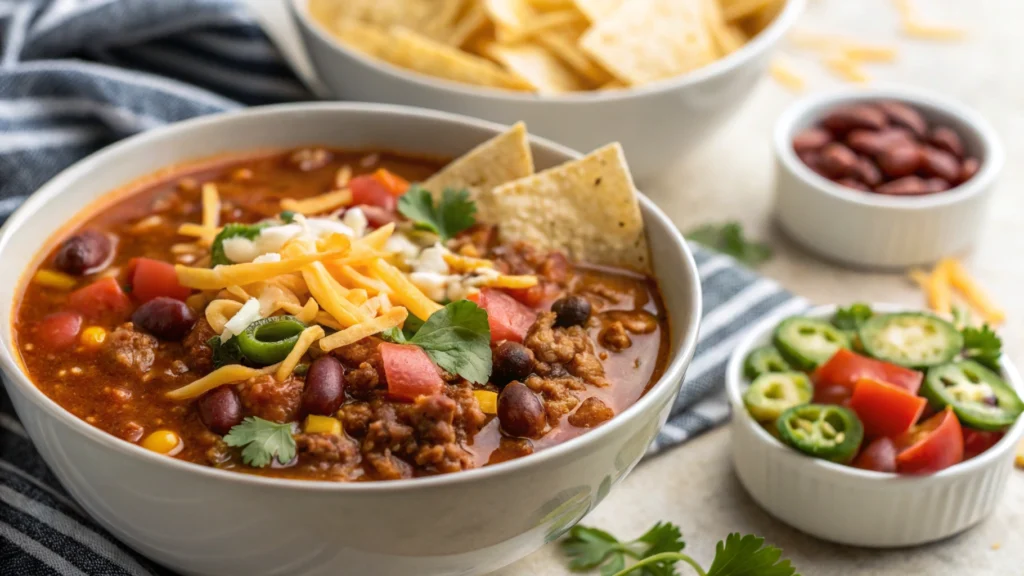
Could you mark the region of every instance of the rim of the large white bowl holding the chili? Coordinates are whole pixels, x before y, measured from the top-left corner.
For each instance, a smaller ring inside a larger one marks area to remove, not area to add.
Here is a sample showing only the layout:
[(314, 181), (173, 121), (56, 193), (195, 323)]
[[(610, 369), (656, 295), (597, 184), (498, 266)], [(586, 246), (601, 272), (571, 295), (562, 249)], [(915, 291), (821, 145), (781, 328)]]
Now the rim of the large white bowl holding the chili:
[[(203, 116), (183, 122), (169, 124), (154, 130), (140, 132), (112, 146), (100, 149), (99, 151), (90, 154), (89, 156), (63, 169), (53, 178), (40, 187), (39, 190), (30, 195), (25, 203), (23, 203), (23, 205), (7, 218), (4, 225), (0, 228), (0, 253), (2, 253), (5, 249), (8, 249), (9, 244), (16, 242), (17, 232), (24, 225), (25, 220), (29, 218), (30, 214), (35, 214), (36, 212), (45, 209), (49, 203), (56, 201), (59, 198), (60, 193), (62, 193), (66, 189), (74, 186), (74, 183), (79, 179), (88, 177), (88, 174), (93, 169), (93, 165), (97, 162), (115, 160), (123, 152), (138, 147), (169, 146), (179, 138), (187, 137), (189, 132), (198, 128), (221, 125), (222, 129), (230, 129), (232, 123), (248, 121), (252, 118), (272, 118), (279, 115), (288, 116), (290, 114), (331, 115), (338, 113), (382, 114), (385, 116), (393, 116), (398, 120), (421, 118), (447, 124), (461, 125), (467, 129), (482, 129), (494, 134), (498, 134), (508, 128), (508, 126), (502, 124), (478, 120), (458, 114), (413, 107), (364, 102), (299, 102), (273, 105)], [(280, 125), (287, 125), (287, 123), (281, 123)], [(564, 156), (566, 160), (572, 160), (582, 156), (577, 151), (552, 142), (546, 138), (535, 136), (532, 134), (529, 135), (529, 138), (531, 147), (547, 149), (548, 152)], [(207, 157), (209, 155), (207, 155)], [(196, 158), (194, 160), (201, 161), (202, 158)], [(175, 163), (174, 165), (188, 162), (190, 161)], [(142, 175), (141, 177), (144, 178), (145, 175)], [(83, 211), (90, 209), (95, 210), (97, 208), (95, 204), (96, 200), (102, 198), (104, 195), (111, 194), (112, 192), (115, 191), (108, 191), (106, 193), (103, 193), (103, 195), (92, 198), (83, 208)], [(682, 234), (675, 227), (675, 224), (672, 223), (672, 220), (664, 212), (662, 212), (662, 210), (652, 201), (639, 191), (637, 191), (637, 197), (640, 202), (642, 212), (644, 213), (644, 219), (647, 222), (646, 225), (659, 227), (666, 230), (671, 242), (675, 245), (678, 253), (682, 256), (682, 261), (679, 262), (679, 264), (686, 269), (686, 274), (691, 279), (692, 285), (688, 287), (690, 292), (689, 301), (683, 304), (684, 306), (688, 306), (690, 308), (689, 314), (687, 314), (685, 318), (680, 318), (677, 322), (670, 325), (671, 329), (678, 333), (679, 352), (671, 357), (664, 373), (657, 381), (648, 387), (644, 395), (637, 399), (636, 402), (620, 414), (616, 414), (611, 420), (595, 429), (588, 430), (586, 434), (580, 435), (577, 438), (559, 443), (536, 454), (530, 454), (527, 457), (516, 458), (506, 462), (500, 462), (498, 464), (446, 475), (375, 482), (331, 482), (261, 477), (218, 469), (194, 462), (178, 460), (177, 458), (168, 458), (165, 455), (156, 454), (142, 448), (141, 446), (126, 442), (115, 437), (114, 435), (88, 424), (44, 395), (42, 390), (40, 390), (32, 382), (31, 378), (25, 372), (20, 362), (16, 358), (17, 352), (13, 349), (14, 342), (10, 337), (13, 333), (13, 320), (16, 318), (16, 299), (10, 303), (11, 322), (8, 323), (7, 326), (0, 327), (0, 342), (3, 344), (0, 345), (0, 368), (2, 368), (5, 372), (6, 377), (3, 379), (4, 384), (6, 386), (16, 387), (17, 392), (36, 405), (37, 408), (43, 410), (56, 420), (66, 423), (77, 434), (80, 434), (87, 439), (91, 439), (92, 441), (104, 445), (112, 450), (121, 452), (127, 457), (142, 458), (158, 466), (167, 466), (169, 468), (177, 469), (182, 474), (201, 475), (210, 478), (212, 481), (219, 480), (268, 488), (299, 489), (307, 491), (377, 493), (449, 487), (460, 485), (462, 483), (475, 482), (477, 480), (483, 480), (495, 476), (511, 474), (515, 470), (522, 470), (523, 468), (534, 468), (542, 465), (548, 460), (561, 457), (569, 452), (583, 448), (586, 445), (600, 442), (606, 437), (615, 434), (620, 428), (625, 426), (628, 421), (636, 418), (639, 414), (650, 408), (656, 402), (657, 397), (666, 394), (666, 390), (674, 386), (676, 382), (681, 382), (686, 367), (689, 365), (689, 362), (693, 357), (694, 349), (696, 348), (696, 337), (701, 315), (701, 291), (696, 262), (693, 259), (693, 254), (690, 251), (689, 246), (683, 240)], [(65, 223), (66, 222), (61, 222), (61, 225)], [(56, 231), (53, 234), (56, 234)], [(26, 248), (14, 249), (25, 250)], [(36, 250), (35, 247), (31, 249), (34, 251)], [(26, 274), (28, 274), (27, 271), (19, 271), (17, 275), (11, 275), (11, 280), (4, 280), (4, 282), (12, 282), (16, 287), (20, 287)]]

